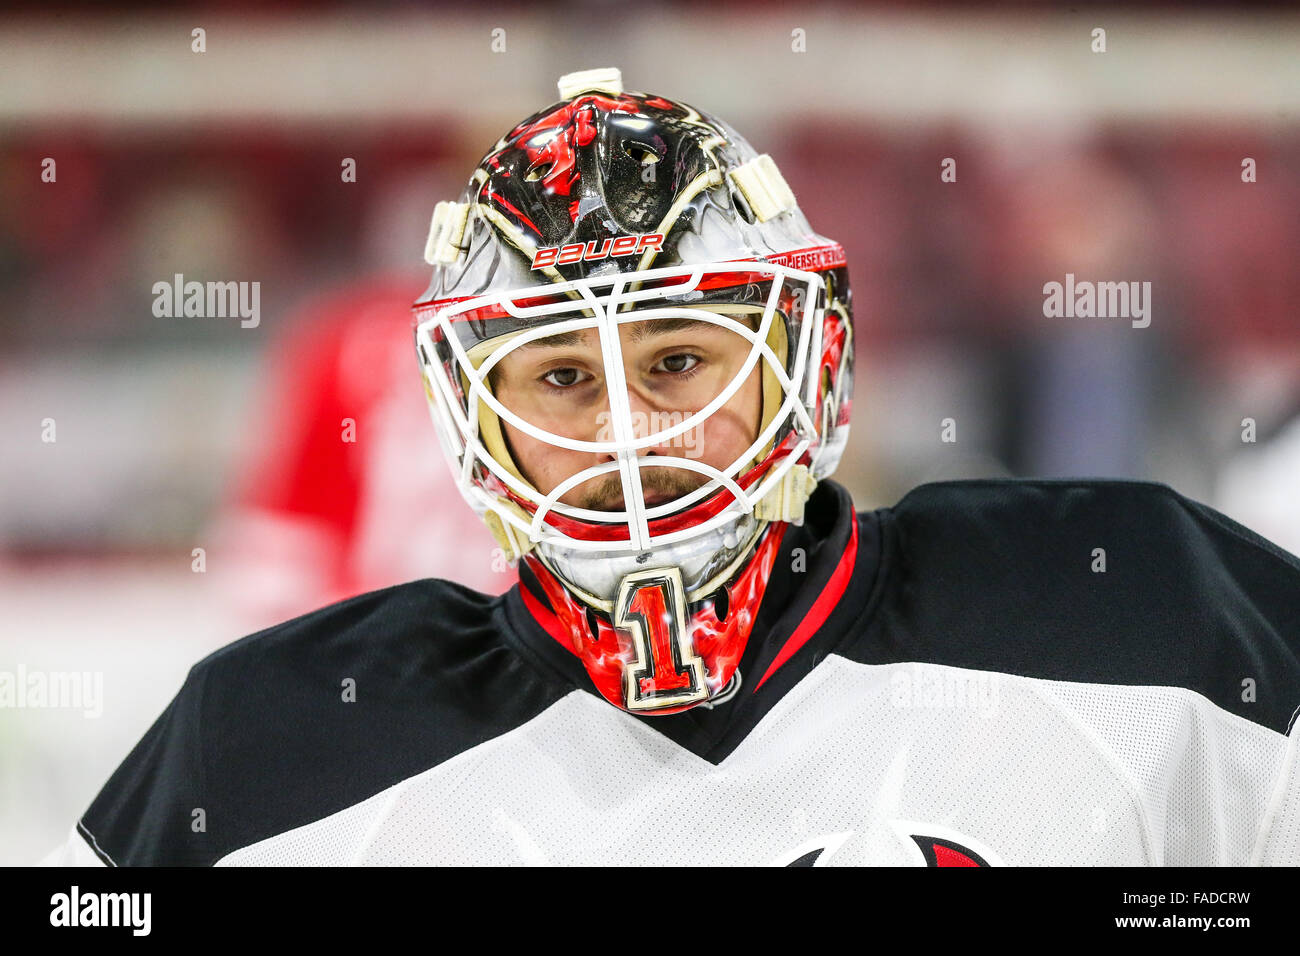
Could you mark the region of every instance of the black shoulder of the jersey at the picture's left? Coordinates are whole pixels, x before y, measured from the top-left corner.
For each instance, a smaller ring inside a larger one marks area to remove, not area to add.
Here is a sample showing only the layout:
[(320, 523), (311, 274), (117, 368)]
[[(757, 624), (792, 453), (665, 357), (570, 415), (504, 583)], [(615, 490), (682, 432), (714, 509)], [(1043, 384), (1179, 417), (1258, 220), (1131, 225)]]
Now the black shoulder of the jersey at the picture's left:
[(426, 579), (221, 648), (78, 829), (108, 864), (211, 865), (517, 727), (572, 688), (495, 637), (500, 605)]

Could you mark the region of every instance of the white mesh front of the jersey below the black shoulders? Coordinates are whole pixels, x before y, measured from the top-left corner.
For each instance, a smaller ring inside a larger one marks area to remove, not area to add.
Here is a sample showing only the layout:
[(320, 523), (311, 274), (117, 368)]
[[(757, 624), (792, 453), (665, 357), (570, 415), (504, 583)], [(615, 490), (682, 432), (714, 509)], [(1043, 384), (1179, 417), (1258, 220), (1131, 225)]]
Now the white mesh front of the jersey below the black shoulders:
[[(1156, 830), (1162, 803), (1166, 862), (1216, 862), (1221, 845), (1236, 862), (1265, 796), (1227, 778), (1284, 739), (1209, 708), (1176, 688), (831, 656), (715, 766), (575, 692), (228, 862), (763, 864), (848, 834), (833, 862), (915, 864), (906, 821), (1013, 865), (1134, 865), (1161, 861), (1141, 808)], [(1216, 813), (1216, 792), (1236, 803)]]

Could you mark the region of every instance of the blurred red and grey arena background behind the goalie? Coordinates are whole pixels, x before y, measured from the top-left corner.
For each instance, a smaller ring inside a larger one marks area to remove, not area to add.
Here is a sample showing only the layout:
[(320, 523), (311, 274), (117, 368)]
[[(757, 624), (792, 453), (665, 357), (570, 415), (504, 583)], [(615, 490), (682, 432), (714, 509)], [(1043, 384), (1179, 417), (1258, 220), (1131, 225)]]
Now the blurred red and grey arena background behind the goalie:
[[(0, 674), (103, 678), (0, 709), (0, 862), (64, 838), (208, 652), (511, 584), (406, 307), (434, 203), (572, 70), (722, 116), (845, 246), (859, 509), (1152, 479), (1300, 551), (1297, 51), (1296, 12), (1243, 4), (0, 8)], [(156, 316), (178, 273), (259, 282), (260, 321)], [(1150, 325), (1044, 317), (1066, 273), (1149, 281)]]

